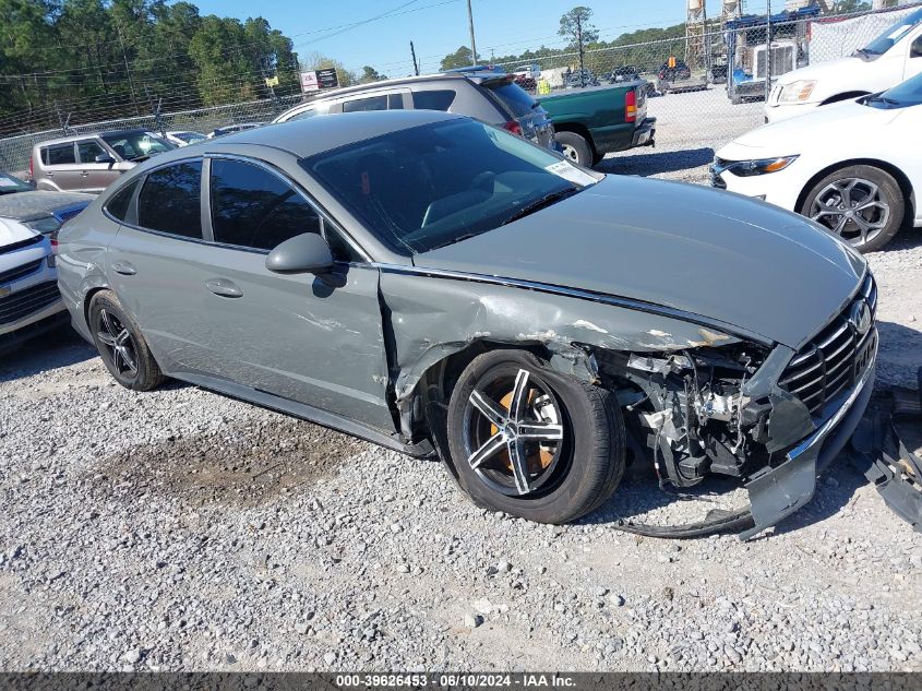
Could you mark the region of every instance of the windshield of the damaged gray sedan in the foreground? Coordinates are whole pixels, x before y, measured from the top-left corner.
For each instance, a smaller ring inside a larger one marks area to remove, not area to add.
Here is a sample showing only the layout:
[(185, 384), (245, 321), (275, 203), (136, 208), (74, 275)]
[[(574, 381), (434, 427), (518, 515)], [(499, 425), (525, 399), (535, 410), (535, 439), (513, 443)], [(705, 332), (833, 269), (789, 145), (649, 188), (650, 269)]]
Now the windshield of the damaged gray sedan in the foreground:
[(391, 132), (301, 165), (406, 255), (487, 233), (601, 179), (467, 119)]

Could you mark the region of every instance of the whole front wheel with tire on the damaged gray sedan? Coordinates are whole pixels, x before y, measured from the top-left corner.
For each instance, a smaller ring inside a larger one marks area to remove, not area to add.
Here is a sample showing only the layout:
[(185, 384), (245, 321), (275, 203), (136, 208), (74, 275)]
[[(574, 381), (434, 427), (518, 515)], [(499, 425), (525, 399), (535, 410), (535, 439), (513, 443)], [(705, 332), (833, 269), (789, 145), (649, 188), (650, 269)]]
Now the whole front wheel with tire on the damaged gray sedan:
[(624, 473), (613, 396), (523, 350), (493, 350), (452, 392), (448, 445), (459, 484), (483, 508), (566, 523), (608, 499)]

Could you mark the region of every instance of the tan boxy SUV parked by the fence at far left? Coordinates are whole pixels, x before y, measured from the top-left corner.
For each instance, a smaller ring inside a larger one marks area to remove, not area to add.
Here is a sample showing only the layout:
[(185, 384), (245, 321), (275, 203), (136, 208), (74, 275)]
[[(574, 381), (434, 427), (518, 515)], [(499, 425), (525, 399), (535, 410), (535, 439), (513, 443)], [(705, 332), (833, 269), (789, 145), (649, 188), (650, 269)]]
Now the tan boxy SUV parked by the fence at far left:
[(38, 190), (98, 193), (125, 170), (172, 148), (144, 129), (73, 134), (36, 144), (29, 174)]

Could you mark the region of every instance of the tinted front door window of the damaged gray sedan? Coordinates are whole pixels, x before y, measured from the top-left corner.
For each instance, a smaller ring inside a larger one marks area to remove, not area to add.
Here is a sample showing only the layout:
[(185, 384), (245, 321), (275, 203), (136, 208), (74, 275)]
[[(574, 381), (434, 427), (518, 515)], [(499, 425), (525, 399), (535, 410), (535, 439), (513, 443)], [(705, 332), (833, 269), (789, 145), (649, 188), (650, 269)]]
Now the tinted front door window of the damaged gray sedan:
[(212, 160), (215, 242), (271, 250), (304, 233), (320, 233), (320, 216), (287, 182), (239, 160)]

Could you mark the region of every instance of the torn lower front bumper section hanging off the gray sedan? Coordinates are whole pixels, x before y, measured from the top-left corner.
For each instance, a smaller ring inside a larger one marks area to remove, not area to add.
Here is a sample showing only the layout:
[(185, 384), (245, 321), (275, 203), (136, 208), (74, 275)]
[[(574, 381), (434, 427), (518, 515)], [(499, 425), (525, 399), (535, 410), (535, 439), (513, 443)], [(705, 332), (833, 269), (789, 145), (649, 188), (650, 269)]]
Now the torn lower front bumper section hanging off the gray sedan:
[(874, 357), (836, 412), (787, 453), (787, 461), (756, 473), (746, 484), (754, 526), (740, 534), (749, 539), (791, 515), (812, 498), (817, 475), (842, 451), (858, 428), (874, 389)]

